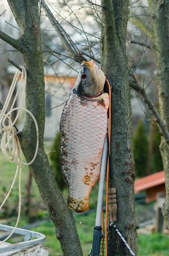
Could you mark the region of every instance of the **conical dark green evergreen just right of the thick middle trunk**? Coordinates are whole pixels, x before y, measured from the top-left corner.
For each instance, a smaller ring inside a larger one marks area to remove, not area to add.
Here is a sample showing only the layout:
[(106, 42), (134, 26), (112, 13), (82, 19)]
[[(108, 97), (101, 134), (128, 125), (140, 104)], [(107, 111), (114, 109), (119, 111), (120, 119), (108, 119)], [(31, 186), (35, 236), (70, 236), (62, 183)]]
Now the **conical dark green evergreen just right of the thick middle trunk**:
[(137, 177), (146, 176), (146, 167), (148, 159), (148, 140), (146, 129), (141, 119), (137, 127), (135, 137), (133, 138), (133, 153), (135, 159), (135, 174)]

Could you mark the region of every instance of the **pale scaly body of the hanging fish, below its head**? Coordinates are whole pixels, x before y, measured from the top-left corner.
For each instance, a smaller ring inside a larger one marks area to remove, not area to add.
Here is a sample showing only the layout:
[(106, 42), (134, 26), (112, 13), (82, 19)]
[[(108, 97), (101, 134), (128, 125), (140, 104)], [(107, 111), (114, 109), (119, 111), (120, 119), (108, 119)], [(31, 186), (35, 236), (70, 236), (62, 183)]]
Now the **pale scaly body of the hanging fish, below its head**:
[(95, 99), (70, 93), (63, 109), (60, 160), (68, 187), (67, 204), (76, 212), (89, 209), (89, 195), (100, 176), (108, 107), (107, 93)]

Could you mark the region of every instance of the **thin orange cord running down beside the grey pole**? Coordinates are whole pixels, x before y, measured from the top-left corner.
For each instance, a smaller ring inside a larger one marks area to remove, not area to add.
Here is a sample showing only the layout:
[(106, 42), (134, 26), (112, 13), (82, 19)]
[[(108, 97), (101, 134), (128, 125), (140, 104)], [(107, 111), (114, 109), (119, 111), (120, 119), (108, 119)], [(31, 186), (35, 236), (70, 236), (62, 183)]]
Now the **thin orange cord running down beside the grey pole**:
[[(110, 152), (110, 130), (111, 130), (111, 88), (109, 81), (106, 79), (109, 87), (109, 152)], [(107, 214), (108, 214), (108, 187), (109, 187), (109, 157), (107, 160), (107, 174), (106, 174), (106, 217), (105, 217), (105, 248), (107, 256)]]

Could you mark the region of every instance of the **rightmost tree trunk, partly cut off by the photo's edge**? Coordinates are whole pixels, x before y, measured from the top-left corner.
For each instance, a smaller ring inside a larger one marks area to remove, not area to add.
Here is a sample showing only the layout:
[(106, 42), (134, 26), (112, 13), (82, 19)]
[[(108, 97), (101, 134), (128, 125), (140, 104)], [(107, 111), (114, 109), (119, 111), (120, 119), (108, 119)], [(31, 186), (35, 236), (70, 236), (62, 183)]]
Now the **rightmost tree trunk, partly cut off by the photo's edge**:
[[(154, 52), (157, 60), (158, 96), (160, 115), (169, 131), (169, 0), (149, 0), (154, 28)], [(166, 67), (167, 66), (167, 67)], [(163, 206), (163, 216), (169, 227), (169, 149), (161, 140), (160, 152), (163, 160), (166, 185), (166, 201)]]

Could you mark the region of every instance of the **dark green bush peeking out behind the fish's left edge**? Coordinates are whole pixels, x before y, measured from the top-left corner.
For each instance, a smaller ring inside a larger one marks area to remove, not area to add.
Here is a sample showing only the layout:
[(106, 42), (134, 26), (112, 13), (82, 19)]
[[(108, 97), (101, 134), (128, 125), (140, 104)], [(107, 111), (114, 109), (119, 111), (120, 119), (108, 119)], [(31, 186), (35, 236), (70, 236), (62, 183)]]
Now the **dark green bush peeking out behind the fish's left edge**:
[(60, 165), (60, 131), (56, 134), (54, 143), (52, 145), (52, 152), (50, 156), (51, 167), (54, 172), (54, 176), (57, 182), (58, 187), (63, 191), (66, 188), (66, 183), (63, 180), (63, 175)]

